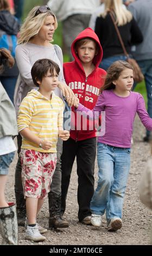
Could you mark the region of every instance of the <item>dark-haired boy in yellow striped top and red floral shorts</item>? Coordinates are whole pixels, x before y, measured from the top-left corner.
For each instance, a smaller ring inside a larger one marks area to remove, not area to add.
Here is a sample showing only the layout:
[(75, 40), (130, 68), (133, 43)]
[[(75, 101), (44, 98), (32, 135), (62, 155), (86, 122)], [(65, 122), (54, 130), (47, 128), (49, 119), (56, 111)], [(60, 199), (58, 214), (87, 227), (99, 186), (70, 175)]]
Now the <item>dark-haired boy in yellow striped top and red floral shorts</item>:
[(50, 191), (58, 136), (63, 141), (69, 138), (69, 131), (62, 128), (64, 102), (53, 92), (58, 86), (59, 72), (58, 64), (52, 60), (35, 62), (31, 76), (39, 89), (31, 90), (24, 97), (17, 117), (18, 132), (22, 135), (22, 184), (28, 220), (26, 239), (33, 241), (46, 239), (40, 234), (36, 215)]

